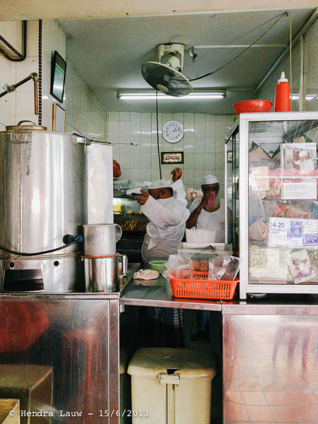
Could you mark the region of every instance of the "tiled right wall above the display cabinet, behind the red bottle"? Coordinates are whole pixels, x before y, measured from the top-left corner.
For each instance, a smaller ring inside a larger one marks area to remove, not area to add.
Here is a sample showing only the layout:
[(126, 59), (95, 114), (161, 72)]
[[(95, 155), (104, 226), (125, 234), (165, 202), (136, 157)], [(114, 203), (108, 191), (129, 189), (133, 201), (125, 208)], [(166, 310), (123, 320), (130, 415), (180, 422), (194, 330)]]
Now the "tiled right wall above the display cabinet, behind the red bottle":
[[(293, 69), (293, 102), (292, 110), (300, 110), (299, 87), (300, 87), (300, 44), (293, 48), (292, 52), (292, 69)], [(285, 56), (281, 64), (271, 74), (269, 79), (264, 83), (255, 98), (275, 100), (275, 87), (281, 71), (290, 81), (289, 72), (289, 54)], [(304, 63), (304, 90), (305, 100), (303, 102), (303, 110), (318, 110), (318, 20), (316, 20), (305, 34), (305, 63)]]

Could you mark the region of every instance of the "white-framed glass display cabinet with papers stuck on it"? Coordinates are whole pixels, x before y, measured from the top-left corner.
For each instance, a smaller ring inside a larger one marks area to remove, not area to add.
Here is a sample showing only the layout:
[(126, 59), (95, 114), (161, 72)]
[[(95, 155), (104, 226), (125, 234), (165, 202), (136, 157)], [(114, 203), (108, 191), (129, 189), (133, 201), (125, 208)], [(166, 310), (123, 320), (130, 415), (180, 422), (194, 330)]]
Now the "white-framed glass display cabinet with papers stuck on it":
[(228, 241), (240, 235), (241, 299), (318, 293), (317, 141), (318, 112), (240, 114), (231, 130), (227, 227)]

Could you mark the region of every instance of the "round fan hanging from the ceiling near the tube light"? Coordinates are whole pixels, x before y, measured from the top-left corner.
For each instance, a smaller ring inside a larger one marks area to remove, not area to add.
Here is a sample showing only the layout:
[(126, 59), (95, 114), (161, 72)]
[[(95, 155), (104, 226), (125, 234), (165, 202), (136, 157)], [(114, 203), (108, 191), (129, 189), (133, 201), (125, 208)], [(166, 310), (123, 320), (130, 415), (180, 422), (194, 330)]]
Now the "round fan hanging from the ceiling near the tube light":
[(147, 83), (167, 95), (181, 97), (192, 92), (192, 84), (181, 73), (184, 60), (184, 45), (158, 45), (159, 61), (146, 61), (141, 73)]

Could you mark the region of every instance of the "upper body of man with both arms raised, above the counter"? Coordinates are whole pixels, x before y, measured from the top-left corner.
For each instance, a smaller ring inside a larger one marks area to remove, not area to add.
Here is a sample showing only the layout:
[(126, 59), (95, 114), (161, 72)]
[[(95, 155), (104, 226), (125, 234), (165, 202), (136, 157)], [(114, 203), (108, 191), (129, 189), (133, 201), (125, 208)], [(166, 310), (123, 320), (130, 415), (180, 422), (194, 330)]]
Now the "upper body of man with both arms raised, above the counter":
[(148, 187), (149, 194), (141, 190), (142, 196), (136, 197), (142, 213), (150, 221), (141, 250), (146, 265), (155, 259), (168, 259), (170, 254), (177, 252), (189, 217), (186, 194), (180, 179), (182, 170), (175, 168), (171, 173), (172, 183), (159, 179)]

